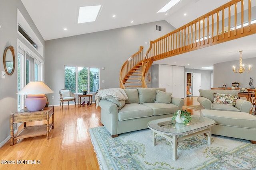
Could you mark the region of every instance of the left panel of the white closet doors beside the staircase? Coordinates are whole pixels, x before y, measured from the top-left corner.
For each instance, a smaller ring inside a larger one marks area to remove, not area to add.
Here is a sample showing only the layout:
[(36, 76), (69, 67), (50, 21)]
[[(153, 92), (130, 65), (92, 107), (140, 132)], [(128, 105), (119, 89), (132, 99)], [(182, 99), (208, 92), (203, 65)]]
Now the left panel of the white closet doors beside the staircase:
[(159, 64), (159, 88), (165, 88), (166, 92), (172, 92), (172, 66)]

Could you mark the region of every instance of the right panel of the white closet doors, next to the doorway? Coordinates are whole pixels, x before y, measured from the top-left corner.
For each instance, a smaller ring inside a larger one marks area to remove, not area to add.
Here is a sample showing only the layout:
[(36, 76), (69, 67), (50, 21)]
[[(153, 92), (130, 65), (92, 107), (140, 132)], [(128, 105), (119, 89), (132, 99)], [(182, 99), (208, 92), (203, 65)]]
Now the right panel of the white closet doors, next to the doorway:
[(185, 68), (172, 66), (172, 97), (184, 98), (185, 94)]

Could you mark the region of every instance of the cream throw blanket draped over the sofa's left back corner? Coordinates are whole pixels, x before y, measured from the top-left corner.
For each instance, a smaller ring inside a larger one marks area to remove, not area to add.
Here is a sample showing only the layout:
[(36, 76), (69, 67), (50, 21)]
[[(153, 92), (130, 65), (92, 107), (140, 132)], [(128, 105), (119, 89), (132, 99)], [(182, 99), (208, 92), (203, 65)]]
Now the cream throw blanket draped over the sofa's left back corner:
[(96, 108), (99, 106), (101, 99), (106, 98), (106, 96), (113, 96), (116, 100), (128, 100), (128, 96), (122, 88), (107, 88), (98, 90), (98, 93), (95, 95), (95, 105)]

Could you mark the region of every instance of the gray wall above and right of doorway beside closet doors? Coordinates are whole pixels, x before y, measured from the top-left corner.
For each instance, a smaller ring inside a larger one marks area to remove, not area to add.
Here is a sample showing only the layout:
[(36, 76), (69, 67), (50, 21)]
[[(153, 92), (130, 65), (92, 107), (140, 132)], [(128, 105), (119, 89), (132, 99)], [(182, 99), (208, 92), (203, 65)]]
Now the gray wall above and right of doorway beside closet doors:
[[(187, 73), (201, 73), (201, 89), (211, 89), (211, 73), (209, 70), (185, 69)], [(185, 76), (186, 78), (186, 76)]]

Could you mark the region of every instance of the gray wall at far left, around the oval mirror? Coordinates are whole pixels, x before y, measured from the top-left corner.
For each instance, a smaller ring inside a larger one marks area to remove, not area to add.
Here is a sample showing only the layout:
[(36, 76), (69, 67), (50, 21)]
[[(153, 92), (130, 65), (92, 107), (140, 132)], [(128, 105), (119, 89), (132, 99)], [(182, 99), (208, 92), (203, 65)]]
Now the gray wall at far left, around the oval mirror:
[[(0, 61), (3, 61), (4, 49), (10, 45), (14, 47), (17, 59), (17, 38), (24, 44), (27, 42), (17, 33), (17, 8), (26, 18), (30, 27), (34, 30), (42, 44), (44, 40), (38, 29), (32, 22), (28, 12), (20, 0), (1, 0), (0, 1)], [(32, 49), (32, 47), (31, 47)], [(34, 50), (34, 49), (32, 49)], [(36, 53), (36, 52), (35, 52)], [(4, 71), (3, 62), (0, 64), (0, 70)], [(0, 79), (0, 147), (4, 145), (10, 136), (10, 113), (17, 111), (17, 60), (16, 67), (12, 76), (5, 75)]]

